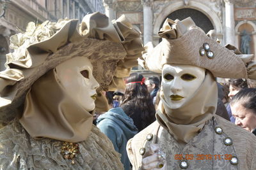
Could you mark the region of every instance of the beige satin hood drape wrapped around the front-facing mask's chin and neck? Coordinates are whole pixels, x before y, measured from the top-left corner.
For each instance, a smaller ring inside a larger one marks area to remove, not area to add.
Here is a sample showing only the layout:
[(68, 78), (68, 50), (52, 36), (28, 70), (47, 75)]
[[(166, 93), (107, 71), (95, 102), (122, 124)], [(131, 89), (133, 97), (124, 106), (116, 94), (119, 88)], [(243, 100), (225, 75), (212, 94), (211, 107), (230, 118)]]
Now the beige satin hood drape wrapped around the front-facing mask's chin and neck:
[(218, 88), (212, 74), (207, 72), (202, 85), (186, 103), (178, 109), (171, 109), (164, 100), (163, 90), (161, 101), (156, 112), (157, 122), (181, 143), (188, 143), (202, 131), (205, 122), (215, 115), (218, 102)]

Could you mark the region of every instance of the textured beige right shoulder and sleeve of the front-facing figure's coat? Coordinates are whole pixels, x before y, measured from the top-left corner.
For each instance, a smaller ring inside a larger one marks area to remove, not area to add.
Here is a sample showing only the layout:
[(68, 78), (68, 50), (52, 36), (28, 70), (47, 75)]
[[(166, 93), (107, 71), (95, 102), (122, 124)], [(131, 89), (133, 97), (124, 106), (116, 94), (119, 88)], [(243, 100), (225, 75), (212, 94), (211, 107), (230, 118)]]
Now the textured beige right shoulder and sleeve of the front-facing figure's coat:
[(215, 117), (223, 132), (232, 139), (241, 169), (248, 169), (248, 167), (255, 169), (256, 136), (222, 117), (217, 115)]

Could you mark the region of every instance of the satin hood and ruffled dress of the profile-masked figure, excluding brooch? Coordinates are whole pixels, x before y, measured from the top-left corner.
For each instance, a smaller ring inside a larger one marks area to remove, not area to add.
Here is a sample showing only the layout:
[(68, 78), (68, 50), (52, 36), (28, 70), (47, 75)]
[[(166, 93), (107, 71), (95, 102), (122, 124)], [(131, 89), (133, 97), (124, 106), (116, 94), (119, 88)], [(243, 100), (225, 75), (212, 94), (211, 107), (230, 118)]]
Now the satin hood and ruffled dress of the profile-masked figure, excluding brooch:
[[(1, 169), (122, 169), (111, 141), (92, 125), (92, 114), (66, 94), (54, 69), (29, 90), (19, 122), (0, 133), (1, 152), (13, 148), (5, 152), (10, 155), (1, 153)], [(63, 141), (79, 145), (74, 165), (60, 155)]]

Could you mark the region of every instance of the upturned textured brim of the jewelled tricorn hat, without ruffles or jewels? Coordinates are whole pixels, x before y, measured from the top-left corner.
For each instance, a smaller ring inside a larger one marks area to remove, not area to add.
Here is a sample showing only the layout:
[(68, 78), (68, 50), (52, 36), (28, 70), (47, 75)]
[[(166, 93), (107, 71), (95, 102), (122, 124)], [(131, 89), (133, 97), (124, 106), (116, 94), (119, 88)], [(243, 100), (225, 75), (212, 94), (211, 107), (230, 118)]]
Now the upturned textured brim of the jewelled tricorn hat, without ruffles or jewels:
[[(200, 48), (208, 43), (214, 57), (200, 55)], [(166, 39), (150, 53), (145, 53), (145, 67), (161, 73), (164, 64), (188, 64), (211, 71), (215, 77), (247, 78), (244, 62), (234, 52), (221, 46), (198, 29), (191, 29), (177, 39)]]

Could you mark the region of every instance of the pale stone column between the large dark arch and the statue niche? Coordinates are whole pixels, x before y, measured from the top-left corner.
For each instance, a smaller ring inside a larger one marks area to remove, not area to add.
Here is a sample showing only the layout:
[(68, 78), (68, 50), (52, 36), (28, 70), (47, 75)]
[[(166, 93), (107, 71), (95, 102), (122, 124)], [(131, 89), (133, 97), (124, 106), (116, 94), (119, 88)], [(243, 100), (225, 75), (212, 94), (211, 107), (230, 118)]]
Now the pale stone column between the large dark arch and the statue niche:
[(236, 45), (235, 19), (234, 19), (234, 0), (225, 1), (225, 43)]

